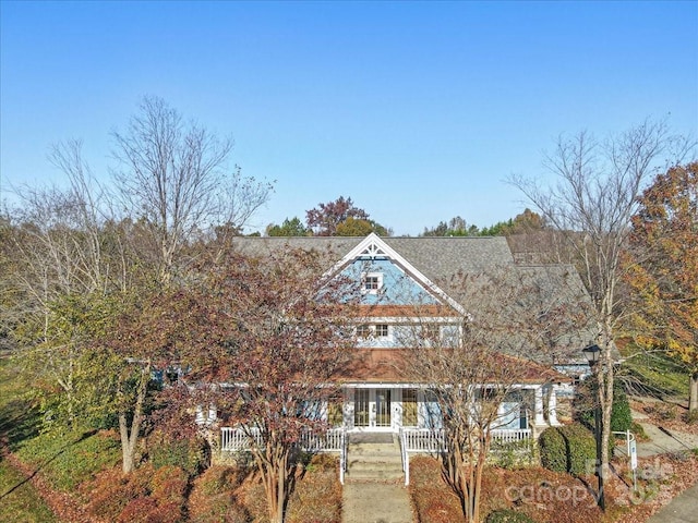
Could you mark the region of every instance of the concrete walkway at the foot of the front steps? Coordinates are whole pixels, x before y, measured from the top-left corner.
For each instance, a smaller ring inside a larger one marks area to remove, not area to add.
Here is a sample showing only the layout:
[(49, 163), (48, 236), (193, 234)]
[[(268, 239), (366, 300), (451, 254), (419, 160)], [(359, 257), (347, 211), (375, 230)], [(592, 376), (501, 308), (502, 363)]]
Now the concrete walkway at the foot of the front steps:
[(395, 483), (351, 483), (342, 489), (342, 523), (412, 523), (407, 487)]

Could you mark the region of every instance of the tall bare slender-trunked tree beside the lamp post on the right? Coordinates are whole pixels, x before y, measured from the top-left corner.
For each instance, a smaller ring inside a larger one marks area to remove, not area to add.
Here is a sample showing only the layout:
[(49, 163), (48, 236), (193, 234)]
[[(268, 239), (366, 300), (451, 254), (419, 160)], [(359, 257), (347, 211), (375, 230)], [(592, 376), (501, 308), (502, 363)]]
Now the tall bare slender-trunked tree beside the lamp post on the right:
[(588, 342), (600, 348), (600, 361), (593, 372), (602, 411), (598, 472), (602, 507), (617, 360), (614, 338), (625, 306), (618, 293), (621, 255), (642, 184), (665, 166), (664, 154), (686, 150), (674, 148), (676, 144), (685, 146), (686, 142), (670, 135), (663, 121), (646, 121), (605, 142), (580, 132), (571, 137), (561, 136), (555, 150), (545, 157), (544, 167), (556, 177), (556, 185), (544, 187), (522, 177), (509, 179), (573, 248), (591, 295), (597, 337)]

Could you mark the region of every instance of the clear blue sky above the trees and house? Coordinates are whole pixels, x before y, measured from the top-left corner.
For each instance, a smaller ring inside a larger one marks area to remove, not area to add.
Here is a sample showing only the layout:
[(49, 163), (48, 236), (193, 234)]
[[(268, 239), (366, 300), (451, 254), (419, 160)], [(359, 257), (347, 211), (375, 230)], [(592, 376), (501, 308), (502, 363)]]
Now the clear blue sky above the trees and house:
[(698, 131), (698, 2), (0, 1), (0, 199), (155, 95), (276, 180), (260, 229), (342, 195), (396, 234), (525, 205), (559, 133)]

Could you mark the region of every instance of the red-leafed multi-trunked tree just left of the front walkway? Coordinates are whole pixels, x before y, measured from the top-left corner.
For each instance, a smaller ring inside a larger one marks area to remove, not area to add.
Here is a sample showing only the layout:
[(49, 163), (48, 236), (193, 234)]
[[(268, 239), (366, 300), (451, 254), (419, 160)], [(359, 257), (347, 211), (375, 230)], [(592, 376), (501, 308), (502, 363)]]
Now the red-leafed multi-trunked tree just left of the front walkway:
[(184, 380), (197, 384), (196, 402), (215, 403), (226, 423), (248, 433), (273, 522), (284, 521), (298, 442), (328, 428), (323, 414), (351, 355), (347, 327), (360, 293), (357, 283), (325, 277), (328, 262), (291, 250), (218, 253), (171, 296), (180, 302), (176, 335), (153, 335), (190, 369)]

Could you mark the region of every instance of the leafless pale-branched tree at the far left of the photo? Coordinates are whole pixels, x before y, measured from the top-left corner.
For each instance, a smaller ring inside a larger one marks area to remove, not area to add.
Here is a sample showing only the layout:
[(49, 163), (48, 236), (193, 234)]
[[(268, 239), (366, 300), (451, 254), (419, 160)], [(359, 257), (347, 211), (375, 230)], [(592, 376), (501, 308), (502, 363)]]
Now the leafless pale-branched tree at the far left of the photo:
[(2, 316), (12, 318), (26, 369), (51, 384), (44, 398), (50, 418), (74, 425), (85, 411), (84, 386), (94, 378), (84, 358), (86, 340), (127, 269), (118, 239), (105, 229), (103, 192), (82, 160), (80, 142), (56, 146), (49, 159), (68, 186), (17, 191), (23, 207), (8, 239), (14, 270), (4, 282), (17, 299)]

